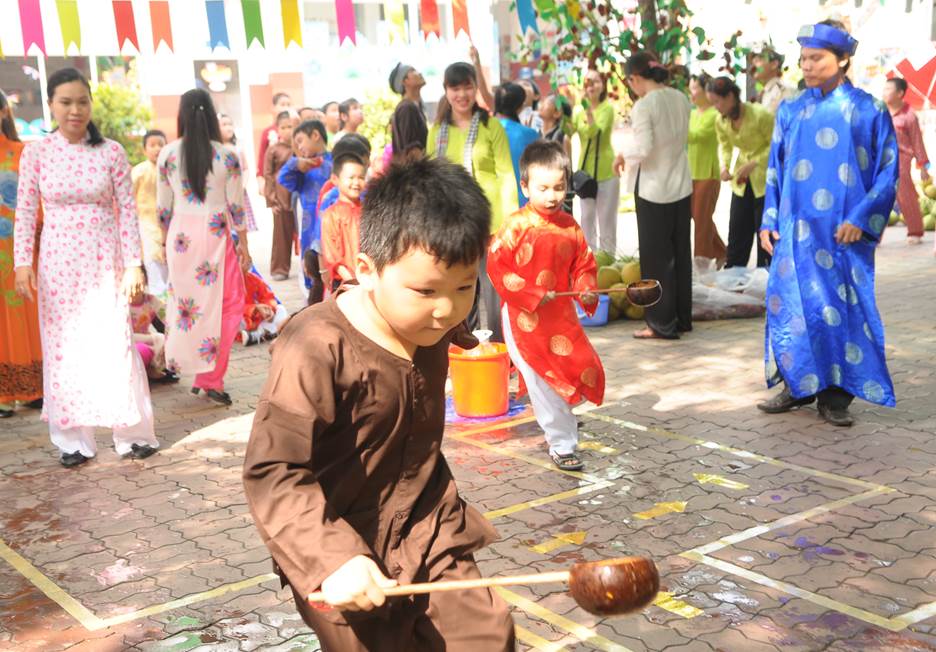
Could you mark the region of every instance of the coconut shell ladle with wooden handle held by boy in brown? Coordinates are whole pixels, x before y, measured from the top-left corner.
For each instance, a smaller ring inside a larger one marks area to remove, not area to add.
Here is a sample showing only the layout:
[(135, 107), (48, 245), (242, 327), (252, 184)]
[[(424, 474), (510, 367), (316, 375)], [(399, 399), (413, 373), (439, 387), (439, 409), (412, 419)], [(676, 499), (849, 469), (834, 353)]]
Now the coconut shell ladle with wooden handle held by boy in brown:
[[(598, 616), (617, 616), (642, 609), (653, 601), (660, 590), (660, 574), (652, 559), (620, 557), (573, 564), (567, 571), (404, 584), (385, 589), (384, 595), (416, 595), (434, 591), (463, 591), (492, 586), (552, 582), (568, 582), (569, 593), (578, 605)], [(321, 593), (312, 593), (307, 599), (312, 603), (321, 603), (324, 596)]]

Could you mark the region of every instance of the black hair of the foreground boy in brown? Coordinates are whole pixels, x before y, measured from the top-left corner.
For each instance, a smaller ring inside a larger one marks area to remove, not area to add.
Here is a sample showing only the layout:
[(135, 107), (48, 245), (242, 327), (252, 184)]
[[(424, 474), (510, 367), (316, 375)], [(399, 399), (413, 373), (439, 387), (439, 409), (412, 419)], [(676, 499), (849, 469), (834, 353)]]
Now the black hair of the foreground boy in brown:
[(367, 187), (361, 253), (378, 272), (419, 248), (448, 266), (487, 250), (491, 204), (461, 165), (442, 158), (397, 163)]

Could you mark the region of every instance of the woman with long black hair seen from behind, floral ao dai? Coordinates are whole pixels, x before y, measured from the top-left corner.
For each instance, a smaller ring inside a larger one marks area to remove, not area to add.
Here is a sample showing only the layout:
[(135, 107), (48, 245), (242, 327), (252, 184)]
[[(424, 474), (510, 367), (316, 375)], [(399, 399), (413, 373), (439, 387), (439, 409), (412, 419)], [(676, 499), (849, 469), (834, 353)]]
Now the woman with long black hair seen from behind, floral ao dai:
[(170, 287), (166, 362), (197, 374), (193, 394), (230, 405), (224, 374), (244, 311), (241, 263), (250, 266), (243, 170), (237, 152), (221, 143), (207, 91), (182, 96), (177, 132), (157, 161)]

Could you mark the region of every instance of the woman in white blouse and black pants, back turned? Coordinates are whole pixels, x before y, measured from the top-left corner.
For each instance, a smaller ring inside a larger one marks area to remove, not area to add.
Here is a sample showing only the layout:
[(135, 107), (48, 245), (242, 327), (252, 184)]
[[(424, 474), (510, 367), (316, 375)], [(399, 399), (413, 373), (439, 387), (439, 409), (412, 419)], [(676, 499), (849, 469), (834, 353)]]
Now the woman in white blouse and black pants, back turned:
[(644, 278), (663, 286), (663, 298), (645, 314), (638, 339), (678, 339), (692, 330), (692, 176), (686, 147), (692, 105), (664, 84), (669, 72), (648, 52), (625, 66), (627, 84), (640, 98), (631, 109), (633, 138), (615, 166), (636, 167), (637, 235)]

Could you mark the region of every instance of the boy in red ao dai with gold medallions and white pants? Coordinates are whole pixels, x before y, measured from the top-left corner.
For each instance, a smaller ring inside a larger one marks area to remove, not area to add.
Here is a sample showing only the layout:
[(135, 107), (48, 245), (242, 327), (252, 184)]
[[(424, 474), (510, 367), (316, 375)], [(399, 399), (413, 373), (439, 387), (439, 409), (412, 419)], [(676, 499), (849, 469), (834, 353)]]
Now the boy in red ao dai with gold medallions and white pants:
[(575, 453), (578, 423), (572, 407), (600, 405), (604, 368), (575, 314), (578, 292), (589, 314), (598, 305), (595, 257), (575, 219), (562, 210), (569, 158), (551, 141), (530, 144), (520, 159), (520, 187), (529, 203), (494, 236), (488, 274), (503, 300), (504, 340), (530, 393), (549, 455), (562, 470), (583, 464)]

